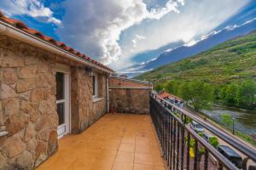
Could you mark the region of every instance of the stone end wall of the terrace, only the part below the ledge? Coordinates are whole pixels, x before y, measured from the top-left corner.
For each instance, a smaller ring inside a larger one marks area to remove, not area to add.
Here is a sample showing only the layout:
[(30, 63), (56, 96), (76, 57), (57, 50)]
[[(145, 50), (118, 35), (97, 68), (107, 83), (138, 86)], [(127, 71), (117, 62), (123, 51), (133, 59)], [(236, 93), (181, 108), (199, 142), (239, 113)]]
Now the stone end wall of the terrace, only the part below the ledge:
[(148, 114), (150, 91), (147, 88), (110, 88), (110, 109), (118, 113)]

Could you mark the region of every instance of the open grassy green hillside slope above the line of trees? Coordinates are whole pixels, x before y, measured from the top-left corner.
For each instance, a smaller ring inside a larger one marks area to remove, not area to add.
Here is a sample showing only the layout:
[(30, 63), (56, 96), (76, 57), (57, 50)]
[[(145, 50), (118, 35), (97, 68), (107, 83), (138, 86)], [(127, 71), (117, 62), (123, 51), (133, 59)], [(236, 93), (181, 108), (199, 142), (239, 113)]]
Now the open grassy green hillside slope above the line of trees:
[(173, 79), (216, 84), (256, 80), (256, 31), (135, 78), (154, 83)]

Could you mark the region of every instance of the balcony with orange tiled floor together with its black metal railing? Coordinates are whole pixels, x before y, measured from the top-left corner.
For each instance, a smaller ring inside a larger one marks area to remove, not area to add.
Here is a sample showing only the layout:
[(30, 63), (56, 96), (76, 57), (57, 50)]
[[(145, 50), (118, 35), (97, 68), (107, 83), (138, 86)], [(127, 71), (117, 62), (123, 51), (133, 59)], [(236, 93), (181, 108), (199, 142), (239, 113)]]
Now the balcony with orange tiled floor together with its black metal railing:
[[(231, 162), (189, 127), (199, 122), (241, 155)], [(192, 146), (193, 145), (193, 146)], [(150, 116), (108, 114), (79, 135), (60, 141), (59, 150), (44, 169), (249, 169), (255, 150), (153, 94)]]

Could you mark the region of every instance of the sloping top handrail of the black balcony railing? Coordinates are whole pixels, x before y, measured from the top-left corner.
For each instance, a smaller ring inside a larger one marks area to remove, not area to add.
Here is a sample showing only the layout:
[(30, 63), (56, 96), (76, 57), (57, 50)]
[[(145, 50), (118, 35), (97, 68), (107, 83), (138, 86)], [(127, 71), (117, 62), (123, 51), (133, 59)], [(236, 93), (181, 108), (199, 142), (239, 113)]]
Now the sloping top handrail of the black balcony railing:
[(191, 113), (189, 113), (188, 111), (184, 111), (183, 109), (181, 109), (180, 107), (178, 107), (177, 105), (173, 105), (172, 103), (168, 102), (166, 99), (161, 98), (158, 95), (155, 94), (151, 94), (151, 96), (154, 98), (158, 98), (160, 100), (163, 100), (166, 102), (167, 105), (171, 105), (173, 108), (175, 108), (177, 111), (180, 111), (183, 113), (183, 115), (185, 116), (189, 116), (191, 119), (193, 119), (195, 122), (198, 122), (201, 124), (201, 126), (206, 127), (210, 132), (214, 133), (215, 135), (217, 135), (219, 138), (223, 139), (225, 142), (227, 142), (228, 144), (231, 144), (234, 148), (236, 148), (236, 150), (241, 151), (241, 153), (243, 153), (244, 155), (248, 156), (250, 159), (252, 159), (253, 161), (256, 162), (256, 150), (254, 150), (252, 147), (248, 146), (245, 143), (242, 143), (240, 140), (236, 140), (234, 139), (232, 136), (230, 136), (230, 134), (225, 133), (222, 130), (219, 130), (217, 127), (213, 127), (212, 125), (210, 125), (209, 123), (206, 122), (202, 122), (201, 119), (199, 119), (196, 116), (193, 116)]

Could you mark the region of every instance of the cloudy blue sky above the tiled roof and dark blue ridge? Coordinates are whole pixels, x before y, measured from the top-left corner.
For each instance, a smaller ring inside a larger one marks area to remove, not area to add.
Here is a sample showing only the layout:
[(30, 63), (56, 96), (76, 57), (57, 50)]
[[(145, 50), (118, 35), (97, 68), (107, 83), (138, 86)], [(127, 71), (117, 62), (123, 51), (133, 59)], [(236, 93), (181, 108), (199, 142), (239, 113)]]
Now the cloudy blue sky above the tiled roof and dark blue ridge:
[[(243, 22), (253, 0), (1, 0), (3, 14), (22, 20), (91, 58), (122, 71), (154, 59), (150, 51)], [(148, 55), (140, 55), (148, 53)]]

